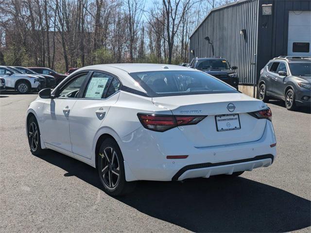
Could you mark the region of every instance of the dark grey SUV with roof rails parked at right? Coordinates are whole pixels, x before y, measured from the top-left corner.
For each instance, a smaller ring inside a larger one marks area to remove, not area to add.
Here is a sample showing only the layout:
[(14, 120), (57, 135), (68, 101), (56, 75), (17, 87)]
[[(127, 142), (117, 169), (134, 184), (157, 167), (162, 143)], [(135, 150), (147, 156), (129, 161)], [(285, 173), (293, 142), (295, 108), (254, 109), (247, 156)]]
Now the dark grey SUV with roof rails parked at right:
[(260, 70), (259, 100), (284, 100), (288, 110), (311, 106), (311, 57), (280, 56)]

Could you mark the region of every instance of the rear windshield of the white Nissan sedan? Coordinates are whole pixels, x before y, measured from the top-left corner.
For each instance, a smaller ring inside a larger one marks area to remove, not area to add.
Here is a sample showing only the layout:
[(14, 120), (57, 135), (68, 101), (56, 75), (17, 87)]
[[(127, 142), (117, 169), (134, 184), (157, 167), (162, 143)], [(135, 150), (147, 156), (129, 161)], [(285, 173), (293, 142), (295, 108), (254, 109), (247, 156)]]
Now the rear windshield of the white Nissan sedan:
[(238, 93), (229, 85), (200, 71), (149, 71), (130, 75), (150, 97)]

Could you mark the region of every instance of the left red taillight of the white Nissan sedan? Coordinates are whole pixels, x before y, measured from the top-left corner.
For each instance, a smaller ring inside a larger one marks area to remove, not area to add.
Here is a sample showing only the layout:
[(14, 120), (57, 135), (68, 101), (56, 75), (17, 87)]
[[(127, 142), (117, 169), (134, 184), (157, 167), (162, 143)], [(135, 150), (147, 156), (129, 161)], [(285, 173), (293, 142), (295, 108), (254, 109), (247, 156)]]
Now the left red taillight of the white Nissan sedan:
[(137, 114), (140, 123), (148, 130), (164, 132), (177, 126), (194, 125), (206, 116), (173, 116), (157, 114)]

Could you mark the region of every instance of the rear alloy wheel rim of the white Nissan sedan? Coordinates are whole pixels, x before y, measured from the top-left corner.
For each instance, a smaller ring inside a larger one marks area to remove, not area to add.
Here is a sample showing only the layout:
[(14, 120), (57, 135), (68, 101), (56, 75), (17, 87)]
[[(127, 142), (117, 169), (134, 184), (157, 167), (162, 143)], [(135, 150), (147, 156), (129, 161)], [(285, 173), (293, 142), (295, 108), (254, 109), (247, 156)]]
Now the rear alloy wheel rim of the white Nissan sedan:
[(101, 169), (104, 184), (108, 189), (114, 189), (120, 180), (120, 164), (116, 150), (106, 147), (101, 156)]

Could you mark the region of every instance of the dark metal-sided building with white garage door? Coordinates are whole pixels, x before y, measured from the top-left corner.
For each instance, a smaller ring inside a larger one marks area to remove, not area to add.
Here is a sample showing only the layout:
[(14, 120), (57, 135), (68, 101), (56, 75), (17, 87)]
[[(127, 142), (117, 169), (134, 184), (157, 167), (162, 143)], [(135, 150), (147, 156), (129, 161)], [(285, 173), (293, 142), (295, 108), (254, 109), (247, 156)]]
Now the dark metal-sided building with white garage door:
[(311, 56), (311, 0), (240, 0), (214, 8), (190, 35), (190, 60), (222, 57), (256, 96), (260, 69), (281, 55)]

